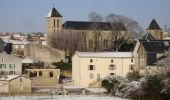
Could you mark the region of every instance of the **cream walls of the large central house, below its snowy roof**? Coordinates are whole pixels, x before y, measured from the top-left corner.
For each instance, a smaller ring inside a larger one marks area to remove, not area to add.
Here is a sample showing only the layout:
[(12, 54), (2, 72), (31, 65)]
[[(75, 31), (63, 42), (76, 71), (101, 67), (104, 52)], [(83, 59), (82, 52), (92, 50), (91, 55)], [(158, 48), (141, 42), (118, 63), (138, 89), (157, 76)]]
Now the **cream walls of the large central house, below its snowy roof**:
[[(93, 62), (90, 62), (90, 59)], [(113, 59), (113, 63), (111, 60)], [(114, 73), (118, 76), (126, 76), (129, 69), (129, 65), (134, 64), (131, 62), (132, 58), (80, 58), (76, 54), (73, 56), (72, 68), (73, 68), (73, 80), (75, 85), (85, 86), (97, 80), (97, 74), (100, 74), (100, 78), (105, 78), (110, 73)], [(116, 66), (115, 70), (110, 70), (109, 66), (113, 64)], [(94, 70), (89, 70), (88, 66), (94, 65)], [(93, 74), (93, 79), (90, 79), (90, 73)]]

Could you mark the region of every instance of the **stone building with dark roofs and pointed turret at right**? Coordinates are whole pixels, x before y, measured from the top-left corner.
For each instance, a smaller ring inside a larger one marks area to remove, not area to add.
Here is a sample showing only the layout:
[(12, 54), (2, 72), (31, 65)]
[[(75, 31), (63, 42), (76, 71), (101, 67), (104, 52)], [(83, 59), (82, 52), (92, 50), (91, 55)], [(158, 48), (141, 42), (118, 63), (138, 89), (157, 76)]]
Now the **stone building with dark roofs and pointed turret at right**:
[(133, 51), (136, 70), (141, 74), (150, 75), (170, 71), (169, 67), (157, 65), (167, 58), (170, 50), (170, 40), (163, 38), (163, 32), (155, 19), (147, 29), (142, 39), (137, 41)]

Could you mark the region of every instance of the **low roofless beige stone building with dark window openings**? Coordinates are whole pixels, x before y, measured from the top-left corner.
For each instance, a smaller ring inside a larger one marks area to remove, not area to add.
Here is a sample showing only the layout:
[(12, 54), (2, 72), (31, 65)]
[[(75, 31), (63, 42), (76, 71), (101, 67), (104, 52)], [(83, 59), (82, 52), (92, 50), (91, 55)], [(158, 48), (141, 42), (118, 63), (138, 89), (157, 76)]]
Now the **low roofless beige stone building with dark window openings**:
[(33, 86), (56, 86), (59, 84), (59, 69), (26, 69)]

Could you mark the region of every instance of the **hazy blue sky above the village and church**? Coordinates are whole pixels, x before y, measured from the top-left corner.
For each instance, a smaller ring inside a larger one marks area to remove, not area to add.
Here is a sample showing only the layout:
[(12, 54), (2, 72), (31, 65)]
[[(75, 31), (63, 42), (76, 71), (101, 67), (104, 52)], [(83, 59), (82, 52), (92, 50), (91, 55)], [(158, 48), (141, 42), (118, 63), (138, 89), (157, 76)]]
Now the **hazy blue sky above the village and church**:
[(155, 18), (170, 27), (170, 0), (0, 0), (0, 32), (45, 32), (45, 17), (54, 7), (68, 20), (88, 21), (90, 12), (103, 17), (130, 17), (146, 29)]

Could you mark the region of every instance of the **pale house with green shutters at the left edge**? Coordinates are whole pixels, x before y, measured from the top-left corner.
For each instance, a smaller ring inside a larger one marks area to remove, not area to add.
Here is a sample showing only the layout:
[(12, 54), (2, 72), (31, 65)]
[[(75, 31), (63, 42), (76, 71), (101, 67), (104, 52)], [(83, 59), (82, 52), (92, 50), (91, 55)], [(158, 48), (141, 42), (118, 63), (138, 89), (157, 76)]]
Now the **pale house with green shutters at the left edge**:
[(22, 74), (22, 59), (0, 52), (0, 74)]

